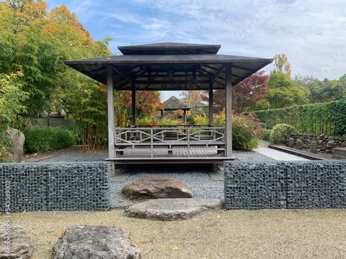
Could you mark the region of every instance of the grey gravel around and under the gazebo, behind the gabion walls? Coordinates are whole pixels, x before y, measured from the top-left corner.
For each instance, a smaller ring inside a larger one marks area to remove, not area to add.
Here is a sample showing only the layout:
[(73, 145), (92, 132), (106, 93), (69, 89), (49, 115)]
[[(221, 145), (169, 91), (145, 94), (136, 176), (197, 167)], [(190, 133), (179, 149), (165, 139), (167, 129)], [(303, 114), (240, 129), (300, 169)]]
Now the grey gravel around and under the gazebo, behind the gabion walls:
[[(78, 151), (52, 157), (42, 162), (92, 162), (103, 161), (107, 153), (80, 153)], [(273, 161), (271, 157), (261, 155), (254, 151), (233, 151), (233, 156), (240, 161)], [(275, 161), (275, 160), (274, 160)], [(210, 178), (210, 172), (219, 171), (223, 164), (155, 164), (155, 165), (123, 165), (118, 166), (122, 172), (130, 172), (131, 175), (125, 182), (111, 182), (111, 207), (122, 208), (136, 202), (121, 193), (122, 188), (131, 182), (147, 178), (149, 176), (162, 176), (184, 182), (194, 193), (195, 198), (209, 198), (224, 200), (224, 182), (214, 181)]]

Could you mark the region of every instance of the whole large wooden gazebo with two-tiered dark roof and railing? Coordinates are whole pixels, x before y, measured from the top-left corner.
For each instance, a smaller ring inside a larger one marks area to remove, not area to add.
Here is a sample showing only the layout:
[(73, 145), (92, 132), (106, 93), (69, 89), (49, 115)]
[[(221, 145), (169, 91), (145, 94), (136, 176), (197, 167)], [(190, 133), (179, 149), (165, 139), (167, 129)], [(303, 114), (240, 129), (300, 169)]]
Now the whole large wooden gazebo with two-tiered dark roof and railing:
[[(118, 49), (123, 55), (65, 61), (66, 65), (107, 85), (111, 176), (115, 176), (116, 164), (215, 163), (235, 158), (232, 155), (232, 86), (273, 60), (218, 55), (220, 47), (176, 43), (122, 46)], [(212, 126), (215, 89), (226, 90), (224, 127)], [(130, 128), (115, 128), (114, 90), (132, 92)], [(209, 126), (138, 128), (137, 90), (208, 90)]]

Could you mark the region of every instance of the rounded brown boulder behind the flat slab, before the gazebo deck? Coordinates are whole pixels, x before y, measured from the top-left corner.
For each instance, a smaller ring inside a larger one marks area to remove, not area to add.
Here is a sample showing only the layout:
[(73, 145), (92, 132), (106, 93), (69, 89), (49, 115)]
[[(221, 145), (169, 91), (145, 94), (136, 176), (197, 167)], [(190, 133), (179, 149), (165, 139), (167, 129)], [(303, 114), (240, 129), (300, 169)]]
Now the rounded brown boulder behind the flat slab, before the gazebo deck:
[(122, 193), (131, 199), (193, 198), (183, 182), (152, 176), (127, 184)]

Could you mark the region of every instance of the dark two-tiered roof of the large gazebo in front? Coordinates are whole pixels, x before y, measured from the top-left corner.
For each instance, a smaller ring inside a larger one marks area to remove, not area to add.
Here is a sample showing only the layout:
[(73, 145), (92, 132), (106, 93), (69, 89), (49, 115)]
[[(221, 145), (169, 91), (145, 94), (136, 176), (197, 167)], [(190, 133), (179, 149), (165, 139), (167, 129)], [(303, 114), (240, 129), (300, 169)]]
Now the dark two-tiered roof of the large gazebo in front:
[[(218, 55), (219, 45), (148, 44), (118, 47), (124, 54), (65, 61), (64, 63), (103, 84), (107, 66), (113, 68), (116, 90), (208, 90), (226, 88), (227, 64), (232, 65), (232, 85), (270, 64), (273, 59)], [(167, 77), (168, 71), (174, 77)]]

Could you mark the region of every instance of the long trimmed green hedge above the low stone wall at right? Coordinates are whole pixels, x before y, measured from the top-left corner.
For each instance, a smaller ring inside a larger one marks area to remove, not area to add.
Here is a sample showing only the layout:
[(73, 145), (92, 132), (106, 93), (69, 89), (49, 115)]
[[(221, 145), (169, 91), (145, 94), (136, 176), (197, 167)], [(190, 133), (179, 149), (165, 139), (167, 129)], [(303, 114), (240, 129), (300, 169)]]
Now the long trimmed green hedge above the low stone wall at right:
[(289, 124), (293, 125), (298, 133), (346, 136), (346, 98), (253, 113), (268, 129), (277, 124)]

